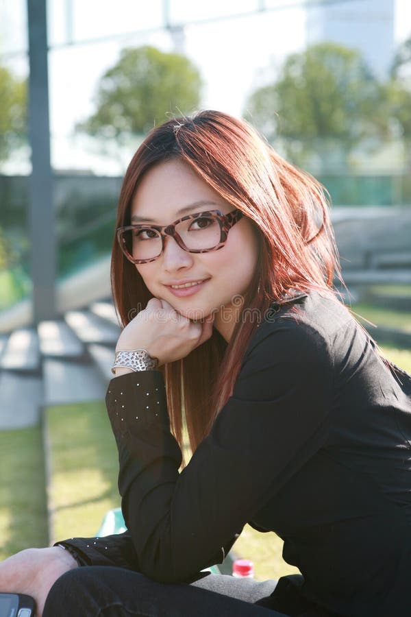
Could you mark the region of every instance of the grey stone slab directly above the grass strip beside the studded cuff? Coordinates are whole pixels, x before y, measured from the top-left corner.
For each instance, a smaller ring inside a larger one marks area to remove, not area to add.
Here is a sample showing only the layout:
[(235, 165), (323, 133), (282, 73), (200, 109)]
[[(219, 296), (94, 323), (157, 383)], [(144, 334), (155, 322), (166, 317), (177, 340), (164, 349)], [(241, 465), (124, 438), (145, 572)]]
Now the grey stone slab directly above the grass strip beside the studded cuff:
[(43, 361), (45, 405), (101, 400), (105, 385), (97, 367), (79, 361), (48, 358)]

